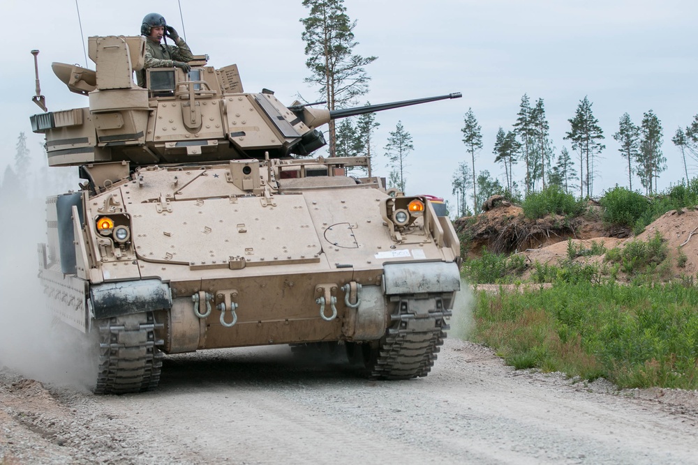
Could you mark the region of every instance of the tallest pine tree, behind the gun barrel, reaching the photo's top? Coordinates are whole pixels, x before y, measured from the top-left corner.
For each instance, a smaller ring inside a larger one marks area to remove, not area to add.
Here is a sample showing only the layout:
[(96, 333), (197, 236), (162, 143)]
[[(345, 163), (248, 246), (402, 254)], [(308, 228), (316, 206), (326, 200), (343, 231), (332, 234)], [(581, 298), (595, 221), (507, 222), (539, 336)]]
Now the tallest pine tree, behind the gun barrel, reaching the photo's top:
[[(346, 14), (344, 0), (303, 0), (309, 16), (300, 20), (305, 30), (302, 39), (309, 56), (306, 66), (311, 76), (305, 81), (320, 86), (330, 110), (346, 107), (369, 90), (369, 75), (364, 67), (376, 56), (364, 58), (353, 53), (358, 45), (352, 32), (356, 21)], [(335, 153), (335, 125), (329, 122), (329, 156)]]

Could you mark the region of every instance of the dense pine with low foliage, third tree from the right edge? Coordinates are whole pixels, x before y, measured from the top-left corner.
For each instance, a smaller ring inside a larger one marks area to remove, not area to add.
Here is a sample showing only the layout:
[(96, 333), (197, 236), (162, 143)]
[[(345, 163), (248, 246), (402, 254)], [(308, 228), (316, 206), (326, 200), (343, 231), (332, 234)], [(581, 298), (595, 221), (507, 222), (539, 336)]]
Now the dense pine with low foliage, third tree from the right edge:
[(637, 174), (646, 194), (653, 195), (658, 192), (659, 174), (667, 169), (667, 159), (662, 155), (662, 123), (652, 110), (642, 115), (640, 137)]

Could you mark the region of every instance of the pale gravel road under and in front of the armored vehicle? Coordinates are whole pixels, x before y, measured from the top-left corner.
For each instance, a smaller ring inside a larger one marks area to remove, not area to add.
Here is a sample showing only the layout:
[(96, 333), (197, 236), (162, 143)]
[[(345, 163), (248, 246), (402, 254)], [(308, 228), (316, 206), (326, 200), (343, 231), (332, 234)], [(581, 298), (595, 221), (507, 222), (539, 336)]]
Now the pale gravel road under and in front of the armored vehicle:
[(161, 386), (94, 397), (0, 372), (0, 463), (698, 463), (698, 393), (514, 372), (447, 340), (430, 376), (367, 381), (287, 348), (170, 356)]

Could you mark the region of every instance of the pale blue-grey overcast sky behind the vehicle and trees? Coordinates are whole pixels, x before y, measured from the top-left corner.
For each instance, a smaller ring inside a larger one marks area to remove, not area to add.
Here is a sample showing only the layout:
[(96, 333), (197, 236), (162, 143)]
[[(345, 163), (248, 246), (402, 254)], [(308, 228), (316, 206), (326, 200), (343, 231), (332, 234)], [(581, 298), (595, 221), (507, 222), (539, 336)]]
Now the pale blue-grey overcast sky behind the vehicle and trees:
[[(308, 10), (301, 0), (179, 0), (184, 27), (177, 1), (78, 0), (82, 36), (75, 0), (4, 3), (3, 170), (13, 162), (20, 131), (29, 137), (34, 168), (39, 167), (43, 137), (31, 133), (29, 125), (29, 116), (40, 112), (31, 102), (31, 49), (40, 50), (41, 90), (49, 109), (87, 106), (87, 98), (70, 93), (50, 64), (84, 66), (83, 37), (87, 42), (88, 36), (136, 36), (142, 17), (151, 12), (161, 13), (180, 35), (186, 33), (192, 51), (209, 54), (211, 66), (237, 63), (245, 91), (266, 87), (287, 105), (297, 93), (308, 100), (318, 97), (303, 81), (309, 71), (299, 19)], [(503, 169), (492, 161), (493, 142), (500, 126), (512, 128), (524, 93), (532, 105), (544, 99), (556, 154), (563, 146), (570, 149), (563, 137), (579, 100), (588, 96), (593, 102), (607, 146), (594, 183), (596, 195), (616, 183), (628, 185), (612, 137), (624, 112), (639, 124), (643, 113), (653, 109), (662, 122), (668, 169), (661, 175), (660, 189), (683, 177), (683, 161), (671, 137), (698, 114), (698, 2), (346, 0), (345, 5), (357, 21), (355, 52), (378, 56), (366, 68), (372, 77), (366, 100), (463, 93), (459, 100), (377, 114), (374, 149), (380, 155), (398, 121), (413, 137), (415, 150), (407, 160), (409, 194), (452, 199), (452, 176), (466, 159), (461, 128), (469, 107), (482, 125), (484, 142), (475, 168), (488, 169), (503, 181)], [(88, 66), (94, 69), (91, 61)], [(374, 172), (387, 176), (385, 163), (383, 156), (374, 160)], [(698, 163), (692, 165), (689, 174), (697, 175)], [(523, 178), (522, 165), (514, 175)], [(633, 186), (639, 187), (637, 178)]]

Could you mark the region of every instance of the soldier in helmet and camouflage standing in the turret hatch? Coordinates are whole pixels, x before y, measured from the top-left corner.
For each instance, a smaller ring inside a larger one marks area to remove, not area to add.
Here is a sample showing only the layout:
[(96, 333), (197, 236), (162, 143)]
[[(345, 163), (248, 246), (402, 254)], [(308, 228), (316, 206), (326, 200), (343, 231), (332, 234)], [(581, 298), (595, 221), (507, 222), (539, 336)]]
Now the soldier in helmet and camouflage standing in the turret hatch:
[[(145, 41), (145, 66), (136, 73), (138, 85), (145, 87), (146, 68), (180, 68), (184, 73), (191, 69), (186, 63), (194, 59), (189, 46), (184, 39), (179, 37), (174, 27), (168, 26), (165, 18), (158, 13), (150, 13), (143, 18), (140, 33), (146, 37)], [(161, 44), (163, 36), (174, 40), (177, 45)]]

